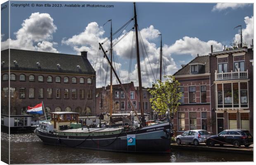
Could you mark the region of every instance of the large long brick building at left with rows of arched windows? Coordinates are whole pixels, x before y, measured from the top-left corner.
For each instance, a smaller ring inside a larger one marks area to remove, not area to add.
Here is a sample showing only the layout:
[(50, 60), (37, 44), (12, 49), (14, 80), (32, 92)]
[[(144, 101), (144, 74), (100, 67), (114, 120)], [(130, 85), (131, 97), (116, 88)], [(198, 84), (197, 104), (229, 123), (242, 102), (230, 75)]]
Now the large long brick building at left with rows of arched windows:
[[(76, 111), (80, 115), (95, 115), (95, 70), (87, 59), (87, 52), (78, 56), (2, 50), (1, 76), (3, 97), (8, 99), (10, 92), (13, 98), (17, 93), (21, 100), (10, 109), (10, 115), (26, 114), (27, 106), (35, 106), (41, 101), (47, 113)], [(1, 113), (7, 112), (8, 107), (2, 104)]]

